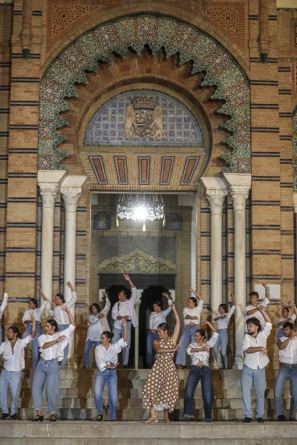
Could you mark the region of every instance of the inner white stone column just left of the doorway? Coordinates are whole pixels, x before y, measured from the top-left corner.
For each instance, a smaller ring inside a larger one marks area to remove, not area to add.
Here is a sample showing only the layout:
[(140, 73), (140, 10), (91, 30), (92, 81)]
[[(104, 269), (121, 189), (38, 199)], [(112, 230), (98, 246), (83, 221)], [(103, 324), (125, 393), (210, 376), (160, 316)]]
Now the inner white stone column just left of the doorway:
[[(76, 276), (76, 208), (82, 192), (82, 185), (85, 176), (69, 176), (61, 184), (61, 195), (64, 201), (64, 287), (63, 294), (65, 301), (71, 298), (71, 291), (67, 286), (70, 281), (75, 288)], [(71, 308), (71, 313), (75, 316), (75, 306)], [(69, 344), (68, 358), (74, 356), (74, 335)]]

